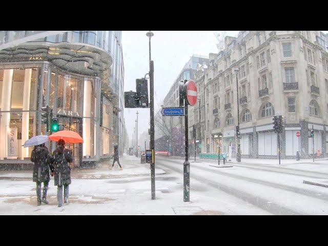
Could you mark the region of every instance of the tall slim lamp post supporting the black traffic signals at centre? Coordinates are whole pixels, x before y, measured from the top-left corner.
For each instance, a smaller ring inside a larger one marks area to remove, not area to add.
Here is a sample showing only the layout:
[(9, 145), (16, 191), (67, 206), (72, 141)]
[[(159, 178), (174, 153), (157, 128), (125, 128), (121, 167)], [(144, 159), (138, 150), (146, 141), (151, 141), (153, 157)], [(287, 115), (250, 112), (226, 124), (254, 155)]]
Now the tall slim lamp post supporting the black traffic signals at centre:
[(150, 39), (154, 36), (152, 31), (147, 32), (149, 37), (149, 94), (150, 94), (150, 149), (152, 151), (151, 169), (151, 193), (155, 199), (155, 117), (154, 117), (154, 61), (151, 60)]

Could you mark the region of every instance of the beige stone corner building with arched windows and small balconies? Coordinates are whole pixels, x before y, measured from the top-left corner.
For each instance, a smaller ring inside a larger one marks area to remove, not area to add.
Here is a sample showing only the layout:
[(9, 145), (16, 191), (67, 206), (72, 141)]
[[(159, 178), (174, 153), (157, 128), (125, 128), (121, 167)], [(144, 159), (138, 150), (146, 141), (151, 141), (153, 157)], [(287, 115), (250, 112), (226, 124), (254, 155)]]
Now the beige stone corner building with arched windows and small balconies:
[(243, 158), (277, 158), (275, 114), (285, 120), (280, 134), (282, 158), (295, 158), (297, 151), (310, 157), (312, 126), (315, 154), (328, 153), (327, 51), (326, 35), (320, 31), (241, 31), (238, 37), (227, 36), (224, 50), (210, 54), (209, 66), (197, 67), (201, 119), (199, 124), (199, 105), (190, 107), (189, 132), (195, 124), (201, 152), (215, 153), (218, 146), (228, 152), (231, 146), (235, 155), (238, 68)]

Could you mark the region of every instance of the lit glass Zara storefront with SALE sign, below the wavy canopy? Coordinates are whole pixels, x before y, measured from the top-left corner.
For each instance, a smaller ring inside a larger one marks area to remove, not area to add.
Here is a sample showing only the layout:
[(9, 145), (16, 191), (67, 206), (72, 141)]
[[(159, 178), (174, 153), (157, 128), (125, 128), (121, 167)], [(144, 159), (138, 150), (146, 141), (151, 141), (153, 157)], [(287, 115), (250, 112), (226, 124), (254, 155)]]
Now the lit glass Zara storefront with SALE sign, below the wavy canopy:
[[(42, 56), (25, 56), (0, 63), (0, 169), (31, 165), (33, 147), (24, 142), (47, 135), (41, 108), (49, 105), (65, 130), (78, 132), (83, 144), (67, 144), (74, 166), (99, 160), (100, 78), (55, 66)], [(47, 143), (53, 151), (56, 144)]]

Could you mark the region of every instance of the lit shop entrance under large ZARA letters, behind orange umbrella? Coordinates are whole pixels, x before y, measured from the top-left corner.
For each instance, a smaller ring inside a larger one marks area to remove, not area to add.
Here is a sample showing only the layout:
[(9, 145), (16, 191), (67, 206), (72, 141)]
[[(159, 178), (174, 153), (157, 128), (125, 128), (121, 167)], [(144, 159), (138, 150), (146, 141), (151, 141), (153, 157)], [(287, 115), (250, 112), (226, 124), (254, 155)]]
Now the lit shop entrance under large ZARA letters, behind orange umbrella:
[[(78, 117), (64, 116), (58, 115), (59, 124), (64, 125), (64, 130), (66, 131), (74, 131), (77, 132), (80, 136), (82, 136), (82, 126), (83, 120)], [(65, 148), (71, 150), (73, 155), (73, 166), (79, 167), (83, 158), (83, 144), (66, 144)]]

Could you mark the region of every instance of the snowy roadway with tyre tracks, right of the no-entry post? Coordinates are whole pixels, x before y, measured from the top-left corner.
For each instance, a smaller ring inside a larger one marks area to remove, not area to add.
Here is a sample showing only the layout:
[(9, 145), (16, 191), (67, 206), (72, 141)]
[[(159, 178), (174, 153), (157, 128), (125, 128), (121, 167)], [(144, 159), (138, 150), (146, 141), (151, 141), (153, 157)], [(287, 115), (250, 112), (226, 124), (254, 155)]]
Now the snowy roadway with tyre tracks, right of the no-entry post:
[[(182, 159), (158, 156), (156, 163), (163, 170), (170, 169), (182, 175)], [(194, 180), (207, 183), (272, 214), (328, 214), (328, 189), (303, 183), (309, 177), (327, 179), (325, 167), (319, 172), (318, 168), (313, 171), (313, 164), (309, 163), (288, 167), (233, 163), (233, 168), (220, 169), (210, 165), (215, 164), (191, 162), (191, 189)]]

